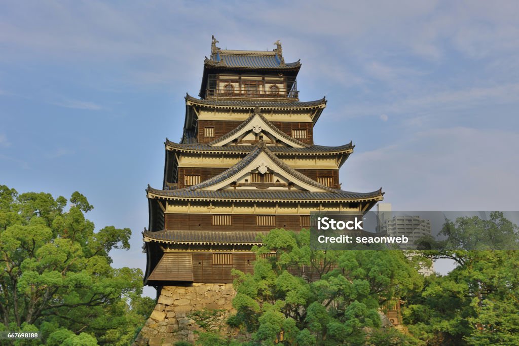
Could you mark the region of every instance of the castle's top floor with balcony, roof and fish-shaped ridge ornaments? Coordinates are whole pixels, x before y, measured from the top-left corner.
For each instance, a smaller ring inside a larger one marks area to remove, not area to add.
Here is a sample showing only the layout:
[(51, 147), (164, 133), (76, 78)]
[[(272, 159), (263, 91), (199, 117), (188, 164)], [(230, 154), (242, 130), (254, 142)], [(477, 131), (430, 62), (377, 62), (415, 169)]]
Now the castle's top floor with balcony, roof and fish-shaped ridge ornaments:
[(212, 37), (199, 96), (206, 100), (298, 101), (299, 61), (285, 63), (281, 43), (272, 51), (227, 50)]

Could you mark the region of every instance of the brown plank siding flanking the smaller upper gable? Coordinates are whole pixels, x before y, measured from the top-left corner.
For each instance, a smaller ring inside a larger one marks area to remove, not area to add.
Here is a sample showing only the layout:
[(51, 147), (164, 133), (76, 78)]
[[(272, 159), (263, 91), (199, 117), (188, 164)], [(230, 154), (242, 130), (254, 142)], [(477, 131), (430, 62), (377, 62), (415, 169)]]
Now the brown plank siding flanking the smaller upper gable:
[[(243, 121), (235, 120), (199, 120), (198, 121), (198, 142), (209, 143), (212, 142), (224, 134), (229, 133), (236, 129)], [(292, 130), (306, 130), (307, 137), (304, 139), (299, 138), (298, 140), (306, 143), (313, 144), (313, 123), (311, 122), (299, 122), (299, 121), (272, 121), (272, 125), (277, 127), (282, 132), (292, 136)], [(204, 136), (204, 128), (214, 128), (214, 137)]]

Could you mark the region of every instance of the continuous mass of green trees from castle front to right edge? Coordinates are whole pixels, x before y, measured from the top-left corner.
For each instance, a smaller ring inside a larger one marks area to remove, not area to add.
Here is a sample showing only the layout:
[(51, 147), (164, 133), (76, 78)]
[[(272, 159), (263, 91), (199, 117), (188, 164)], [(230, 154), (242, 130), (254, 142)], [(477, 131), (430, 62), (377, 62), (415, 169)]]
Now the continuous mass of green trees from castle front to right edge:
[[(241, 333), (223, 338), (208, 329), (198, 343), (519, 344), (519, 252), (481, 250), (516, 242), (517, 226), (493, 212), (488, 220), (446, 220), (443, 233), (446, 250), (406, 256), (315, 251), (307, 230), (272, 230), (263, 246), (253, 248), (254, 273), (234, 271), (237, 313), (227, 323)], [(447, 275), (418, 274), (420, 264), (439, 258), (455, 260), (457, 267)], [(405, 333), (380, 328), (380, 312), (395, 298), (403, 301)]]

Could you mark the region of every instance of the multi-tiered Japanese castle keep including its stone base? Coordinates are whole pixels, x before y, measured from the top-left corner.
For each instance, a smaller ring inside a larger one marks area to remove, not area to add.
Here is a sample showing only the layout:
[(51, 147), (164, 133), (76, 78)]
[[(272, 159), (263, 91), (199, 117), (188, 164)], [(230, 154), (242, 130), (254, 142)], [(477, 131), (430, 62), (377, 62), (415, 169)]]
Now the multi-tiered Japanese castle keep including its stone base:
[[(166, 139), (162, 188), (148, 186), (144, 282), (158, 292), (140, 343), (193, 340), (190, 311), (231, 309), (231, 269), (251, 272), (256, 236), (308, 228), (311, 211), (364, 212), (381, 189), (341, 189), (354, 145), (314, 143), (326, 100), (300, 101), (301, 63), (272, 51), (224, 50), (213, 37), (199, 98), (185, 96), (182, 140)], [(347, 185), (347, 184), (344, 184)]]

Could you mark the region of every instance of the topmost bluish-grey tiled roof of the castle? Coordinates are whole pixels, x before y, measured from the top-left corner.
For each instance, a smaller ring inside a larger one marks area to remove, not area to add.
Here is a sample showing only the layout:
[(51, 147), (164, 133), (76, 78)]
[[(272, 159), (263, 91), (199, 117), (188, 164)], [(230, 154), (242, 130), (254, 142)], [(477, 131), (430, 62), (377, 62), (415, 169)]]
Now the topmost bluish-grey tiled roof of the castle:
[(217, 67), (236, 68), (276, 68), (293, 70), (299, 68), (299, 61), (284, 63), (275, 52), (251, 50), (224, 50), (219, 49), (204, 61), (206, 65)]

